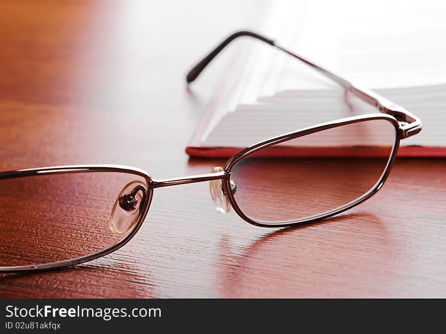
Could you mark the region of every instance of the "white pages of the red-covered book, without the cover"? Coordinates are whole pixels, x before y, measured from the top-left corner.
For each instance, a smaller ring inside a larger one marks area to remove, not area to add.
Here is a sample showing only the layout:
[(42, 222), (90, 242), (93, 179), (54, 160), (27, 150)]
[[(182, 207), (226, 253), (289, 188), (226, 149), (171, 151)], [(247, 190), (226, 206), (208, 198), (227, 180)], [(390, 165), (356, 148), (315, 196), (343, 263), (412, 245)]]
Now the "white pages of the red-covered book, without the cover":
[[(278, 33), (283, 41), (276, 41), (419, 116), (423, 131), (402, 145), (446, 146), (445, 5), (386, 2), (383, 12), (383, 3), (360, 10), (353, 1), (312, 1), (300, 6), (305, 21), (281, 25), (287, 30)], [(339, 6), (353, 10), (342, 12)], [(351, 110), (336, 84), (277, 49), (260, 47), (237, 102), (226, 104), (226, 113), (202, 138), (204, 146), (244, 147), (352, 113), (377, 113), (358, 101)]]

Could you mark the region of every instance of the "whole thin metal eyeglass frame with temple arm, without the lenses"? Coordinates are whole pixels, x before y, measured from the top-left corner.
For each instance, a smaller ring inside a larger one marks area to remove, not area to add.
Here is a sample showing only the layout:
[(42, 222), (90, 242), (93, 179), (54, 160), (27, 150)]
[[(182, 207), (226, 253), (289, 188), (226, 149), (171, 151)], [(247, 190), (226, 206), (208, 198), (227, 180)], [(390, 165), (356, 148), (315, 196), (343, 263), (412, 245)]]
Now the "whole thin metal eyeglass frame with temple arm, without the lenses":
[[(128, 167), (128, 166), (118, 166), (118, 165), (79, 165), (79, 166), (53, 166), (53, 167), (43, 167), (43, 168), (31, 168), (31, 169), (21, 169), (21, 170), (13, 170), (13, 171), (5, 171), (0, 172), (0, 180), (1, 179), (9, 179), (9, 178), (16, 178), (16, 177), (26, 177), (26, 176), (38, 176), (38, 175), (49, 175), (49, 174), (62, 174), (62, 173), (81, 173), (81, 172), (122, 172), (122, 173), (129, 173), (134, 174), (140, 177), (143, 177), (146, 182), (146, 190), (144, 191), (144, 196), (142, 199), (142, 203), (139, 206), (139, 217), (137, 221), (135, 222), (134, 227), (131, 229), (131, 231), (123, 238), (119, 243), (110, 246), (104, 250), (95, 252), (90, 255), (69, 259), (66, 261), (61, 262), (55, 262), (55, 263), (48, 263), (48, 264), (41, 264), (41, 265), (29, 265), (29, 266), (18, 266), (18, 267), (0, 267), (0, 273), (11, 273), (11, 272), (23, 272), (23, 271), (36, 271), (36, 270), (46, 270), (46, 269), (54, 269), (54, 268), (61, 268), (61, 267), (67, 267), (72, 265), (77, 265), (80, 263), (84, 263), (87, 261), (90, 261), (92, 259), (104, 256), (106, 254), (109, 254), (122, 246), (124, 246), (139, 230), (139, 228), (142, 225), (142, 222), (144, 221), (148, 209), (150, 207), (150, 204), (152, 202), (153, 192), (156, 188), (162, 188), (162, 187), (170, 187), (171, 185), (178, 185), (178, 184), (187, 184), (187, 183), (195, 183), (195, 182), (204, 182), (204, 181), (213, 181), (213, 180), (221, 180), (222, 182), (222, 190), (224, 192), (224, 195), (228, 199), (229, 204), (233, 207), (233, 209), (237, 212), (237, 214), (245, 221), (249, 222), (249, 224), (261, 226), (261, 227), (289, 227), (293, 225), (298, 225), (302, 223), (312, 222), (319, 219), (324, 219), (329, 216), (338, 214), (340, 212), (343, 212), (345, 210), (348, 210), (361, 202), (365, 201), (369, 197), (376, 194), (383, 186), (384, 182), (387, 179), (387, 176), (390, 173), (390, 170), (392, 168), (392, 164), (396, 158), (396, 153), (398, 151), (399, 142), (401, 139), (413, 136), (421, 131), (422, 123), (421, 120), (416, 117), (415, 115), (409, 113), (406, 109), (403, 107), (390, 102), (386, 98), (378, 95), (375, 92), (372, 92), (370, 90), (359, 88), (356, 85), (353, 85), (351, 82), (335, 75), (334, 73), (324, 69), (323, 67), (320, 67), (313, 62), (310, 62), (309, 60), (294, 54), (285, 48), (282, 48), (278, 46), (273, 40), (267, 39), (264, 36), (261, 36), (259, 34), (256, 34), (254, 32), (250, 31), (238, 31), (232, 35), (230, 35), (225, 41), (223, 41), (221, 44), (219, 44), (214, 50), (212, 50), (203, 60), (201, 60), (189, 73), (187, 76), (187, 82), (188, 84), (193, 82), (203, 71), (203, 69), (212, 61), (212, 59), (222, 50), (224, 49), (229, 43), (231, 43), (236, 38), (239, 38), (240, 36), (249, 36), (251, 38), (257, 39), (259, 41), (265, 42), (273, 47), (278, 48), (279, 50), (282, 50), (289, 54), (290, 56), (310, 65), (315, 70), (322, 73), (327, 78), (333, 80), (334, 82), (341, 85), (346, 92), (350, 92), (354, 94), (355, 96), (359, 97), (363, 101), (367, 102), (370, 105), (373, 105), (376, 107), (381, 114), (368, 114), (368, 115), (361, 115), (361, 116), (353, 116), (348, 118), (343, 118), (323, 124), (318, 124), (315, 126), (311, 126), (305, 129), (301, 129), (298, 131), (293, 131), (290, 133), (286, 133), (280, 136), (276, 136), (261, 142), (258, 142), (254, 145), (251, 145), (249, 147), (246, 147), (246, 149), (239, 151), (235, 155), (233, 155), (226, 163), (224, 170), (220, 172), (210, 173), (210, 174), (202, 174), (202, 175), (194, 175), (194, 176), (188, 176), (188, 177), (179, 177), (179, 178), (170, 178), (170, 179), (162, 179), (162, 180), (155, 180), (153, 179), (146, 171), (134, 168), (134, 167)], [(290, 139), (298, 138), (301, 136), (305, 136), (311, 133), (315, 133), (318, 131), (331, 129), (343, 125), (353, 124), (357, 122), (363, 122), (368, 120), (386, 120), (389, 121), (394, 127), (395, 127), (395, 142), (393, 145), (393, 149), (390, 155), (390, 158), (387, 162), (387, 165), (385, 167), (385, 170), (383, 174), (381, 175), (381, 178), (379, 181), (375, 184), (375, 186), (370, 189), (368, 192), (366, 192), (364, 195), (360, 196), (354, 201), (351, 201), (341, 207), (332, 209), (327, 212), (323, 212), (318, 215), (302, 218), (302, 219), (296, 219), (291, 221), (282, 221), (282, 222), (263, 222), (263, 221), (256, 221), (249, 217), (247, 217), (243, 211), (239, 208), (237, 205), (237, 202), (234, 198), (234, 193), (232, 191), (231, 187), (231, 169), (232, 167), (241, 159), (253, 154), (256, 151), (265, 149), (266, 147), (269, 147), (271, 145), (275, 145)]]

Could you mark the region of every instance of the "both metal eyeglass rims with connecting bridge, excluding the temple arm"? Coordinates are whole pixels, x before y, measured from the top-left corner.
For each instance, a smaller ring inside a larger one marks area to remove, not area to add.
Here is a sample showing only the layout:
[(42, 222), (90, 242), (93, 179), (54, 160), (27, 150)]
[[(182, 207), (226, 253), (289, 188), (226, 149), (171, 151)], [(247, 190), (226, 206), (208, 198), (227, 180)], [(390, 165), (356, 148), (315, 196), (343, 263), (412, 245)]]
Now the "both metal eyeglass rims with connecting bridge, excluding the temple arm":
[[(319, 132), (322, 130), (335, 128), (343, 125), (358, 123), (362, 121), (368, 121), (368, 120), (387, 120), (390, 123), (393, 124), (395, 127), (395, 144), (393, 146), (392, 154), (389, 158), (388, 164), (386, 166), (386, 169), (384, 173), (382, 174), (381, 179), (377, 182), (376, 187), (371, 189), (368, 193), (364, 194), (362, 197), (359, 197), (357, 200), (348, 203), (345, 206), (342, 206), (338, 209), (329, 211), (326, 214), (312, 217), (311, 219), (300, 219), (295, 221), (286, 221), (286, 222), (279, 222), (279, 223), (265, 223), (253, 220), (249, 217), (247, 217), (243, 211), (239, 208), (234, 195), (231, 191), (231, 169), (232, 167), (241, 159), (245, 158), (246, 156), (264, 149), (265, 147), (287, 141), (290, 139), (302, 137), (311, 133)], [(253, 144), (249, 147), (246, 147), (246, 149), (243, 149), (236, 153), (234, 156), (229, 158), (225, 165), (224, 172), (221, 172), (220, 174), (204, 174), (204, 175), (197, 175), (194, 177), (183, 177), (178, 179), (170, 179), (167, 181), (157, 181), (151, 178), (151, 176), (144, 170), (136, 167), (130, 167), (130, 166), (120, 166), (120, 165), (75, 165), (75, 166), (52, 166), (52, 167), (41, 167), (41, 168), (29, 168), (29, 169), (20, 169), (20, 170), (13, 170), (13, 171), (6, 171), (6, 172), (0, 172), (0, 180), (1, 179), (8, 179), (8, 178), (15, 178), (15, 177), (26, 177), (26, 176), (36, 176), (36, 175), (49, 175), (49, 174), (65, 174), (65, 173), (81, 173), (81, 172), (122, 172), (122, 173), (129, 173), (138, 175), (140, 177), (143, 177), (146, 181), (146, 188), (147, 188), (147, 196), (144, 202), (141, 206), (144, 207), (143, 213), (138, 218), (135, 227), (132, 229), (132, 231), (125, 236), (124, 239), (122, 239), (117, 244), (110, 246), (106, 249), (103, 249), (101, 251), (73, 258), (68, 259), (65, 261), (60, 262), (53, 262), (53, 263), (47, 263), (47, 264), (39, 264), (39, 265), (27, 265), (27, 266), (4, 266), (0, 267), (0, 273), (17, 273), (17, 272), (25, 272), (25, 271), (41, 271), (41, 270), (48, 270), (48, 269), (57, 269), (57, 268), (63, 268), (73, 265), (78, 265), (81, 263), (85, 263), (88, 261), (91, 261), (93, 259), (96, 259), (98, 257), (105, 256), (109, 253), (112, 253), (122, 246), (124, 246), (127, 242), (129, 242), (138, 232), (140, 229), (146, 215), (148, 212), (148, 209), (150, 208), (150, 205), (152, 203), (153, 198), (153, 192), (155, 188), (158, 187), (164, 187), (166, 185), (175, 185), (175, 184), (184, 184), (184, 183), (192, 183), (192, 182), (201, 182), (201, 181), (209, 181), (212, 179), (221, 179), (222, 181), (222, 187), (225, 191), (225, 194), (227, 196), (227, 199), (231, 206), (233, 207), (234, 211), (246, 222), (248, 222), (251, 225), (260, 226), (260, 227), (290, 227), (294, 225), (299, 224), (305, 224), (308, 222), (321, 220), (327, 217), (330, 217), (332, 215), (336, 215), (340, 212), (343, 212), (345, 210), (348, 210), (366, 199), (370, 198), (374, 194), (378, 192), (379, 189), (381, 189), (382, 185), (384, 184), (385, 180), (387, 179), (387, 176), (390, 173), (391, 167), (393, 165), (393, 162), (396, 158), (396, 153), (398, 151), (399, 147), (399, 141), (403, 137), (403, 129), (401, 128), (401, 125), (398, 123), (396, 118), (394, 118), (391, 115), (387, 114), (369, 114), (369, 115), (360, 115), (360, 116), (354, 116), (339, 120), (330, 121), (323, 124), (318, 124), (312, 127), (304, 128), (301, 130), (293, 131), (290, 133), (286, 133), (277, 137), (273, 137), (261, 142), (258, 142), (256, 144)]]

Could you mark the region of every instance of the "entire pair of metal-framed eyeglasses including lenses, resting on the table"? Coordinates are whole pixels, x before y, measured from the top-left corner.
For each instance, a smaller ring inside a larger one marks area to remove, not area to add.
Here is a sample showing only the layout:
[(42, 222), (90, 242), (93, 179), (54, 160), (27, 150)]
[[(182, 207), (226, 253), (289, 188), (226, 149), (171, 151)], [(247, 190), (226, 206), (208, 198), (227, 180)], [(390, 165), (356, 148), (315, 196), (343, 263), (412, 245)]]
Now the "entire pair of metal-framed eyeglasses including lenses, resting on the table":
[(0, 272), (76, 265), (117, 250), (141, 227), (156, 188), (210, 181), (218, 211), (227, 213), (232, 207), (242, 219), (261, 227), (323, 219), (378, 192), (400, 140), (421, 131), (420, 119), (249, 31), (236, 32), (218, 45), (189, 72), (188, 83), (240, 36), (303, 61), (381, 113), (270, 138), (204, 175), (156, 180), (141, 169), (109, 165), (0, 172)]

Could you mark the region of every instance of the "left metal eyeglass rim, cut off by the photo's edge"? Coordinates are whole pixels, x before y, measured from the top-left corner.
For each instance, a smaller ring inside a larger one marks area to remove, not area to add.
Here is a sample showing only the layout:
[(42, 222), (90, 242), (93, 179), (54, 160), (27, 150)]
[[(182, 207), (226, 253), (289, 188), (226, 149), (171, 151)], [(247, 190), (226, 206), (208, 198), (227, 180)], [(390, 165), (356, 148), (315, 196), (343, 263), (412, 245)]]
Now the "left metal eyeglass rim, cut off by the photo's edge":
[(0, 273), (7, 274), (7, 273), (18, 273), (27, 271), (41, 271), (41, 270), (57, 269), (57, 268), (79, 265), (81, 263), (91, 261), (93, 259), (105, 256), (109, 253), (118, 250), (126, 243), (128, 243), (136, 235), (139, 228), (142, 226), (145, 217), (147, 216), (147, 212), (148, 209), (150, 208), (153, 198), (153, 188), (150, 186), (151, 177), (147, 172), (145, 172), (142, 169), (130, 166), (119, 166), (119, 165), (54, 166), (54, 167), (29, 168), (29, 169), (20, 169), (8, 172), (0, 172), (0, 180), (18, 178), (18, 177), (28, 177), (28, 176), (43, 176), (43, 175), (70, 174), (70, 173), (91, 173), (91, 172), (120, 172), (120, 173), (137, 175), (144, 178), (146, 182), (147, 193), (146, 196), (144, 196), (143, 202), (139, 206), (139, 208), (143, 208), (143, 210), (142, 213), (139, 214), (138, 220), (136, 221), (135, 226), (130, 231), (130, 233), (127, 234), (118, 243), (92, 254), (72, 259), (67, 259), (64, 261), (51, 262), (39, 265), (0, 266)]

